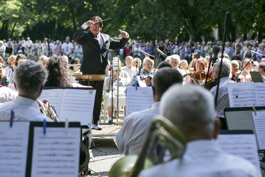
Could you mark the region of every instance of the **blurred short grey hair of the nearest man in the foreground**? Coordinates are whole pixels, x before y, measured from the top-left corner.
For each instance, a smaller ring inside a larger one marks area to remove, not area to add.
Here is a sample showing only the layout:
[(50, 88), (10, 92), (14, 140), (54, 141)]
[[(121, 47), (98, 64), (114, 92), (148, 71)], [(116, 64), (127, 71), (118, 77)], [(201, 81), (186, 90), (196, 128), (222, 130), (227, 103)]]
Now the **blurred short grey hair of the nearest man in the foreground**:
[(179, 127), (184, 135), (208, 138), (213, 135), (214, 100), (206, 89), (175, 84), (163, 94), (159, 111)]

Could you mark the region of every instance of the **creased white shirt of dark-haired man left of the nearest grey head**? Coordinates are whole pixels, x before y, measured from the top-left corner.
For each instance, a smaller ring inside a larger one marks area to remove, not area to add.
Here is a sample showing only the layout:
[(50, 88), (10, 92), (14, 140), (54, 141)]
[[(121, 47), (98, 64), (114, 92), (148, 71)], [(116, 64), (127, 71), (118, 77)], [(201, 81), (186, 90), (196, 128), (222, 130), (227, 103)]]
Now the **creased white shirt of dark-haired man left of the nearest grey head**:
[(151, 108), (133, 112), (125, 118), (122, 129), (116, 134), (117, 145), (123, 154), (139, 153), (151, 119), (159, 115), (158, 108), (159, 102), (155, 102)]

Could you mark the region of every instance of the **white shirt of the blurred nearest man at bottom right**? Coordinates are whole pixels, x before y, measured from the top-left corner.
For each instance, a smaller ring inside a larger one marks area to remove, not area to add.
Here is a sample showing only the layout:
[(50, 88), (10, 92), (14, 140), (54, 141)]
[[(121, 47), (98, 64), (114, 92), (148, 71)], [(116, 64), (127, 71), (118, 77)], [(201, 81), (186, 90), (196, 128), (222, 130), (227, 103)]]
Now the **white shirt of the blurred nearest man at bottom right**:
[(183, 160), (174, 159), (142, 172), (138, 177), (261, 177), (261, 171), (249, 161), (226, 154), (212, 140), (187, 143)]

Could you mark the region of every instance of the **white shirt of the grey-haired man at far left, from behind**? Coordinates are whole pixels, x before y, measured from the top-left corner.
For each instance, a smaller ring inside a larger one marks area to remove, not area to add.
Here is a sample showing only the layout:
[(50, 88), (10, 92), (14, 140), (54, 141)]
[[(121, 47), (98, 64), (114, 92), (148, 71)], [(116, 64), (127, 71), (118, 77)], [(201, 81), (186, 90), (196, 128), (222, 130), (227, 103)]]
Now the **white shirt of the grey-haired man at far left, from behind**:
[(11, 110), (14, 111), (14, 121), (40, 121), (53, 122), (40, 112), (39, 104), (29, 98), (17, 96), (14, 101), (0, 103), (0, 121), (9, 121)]

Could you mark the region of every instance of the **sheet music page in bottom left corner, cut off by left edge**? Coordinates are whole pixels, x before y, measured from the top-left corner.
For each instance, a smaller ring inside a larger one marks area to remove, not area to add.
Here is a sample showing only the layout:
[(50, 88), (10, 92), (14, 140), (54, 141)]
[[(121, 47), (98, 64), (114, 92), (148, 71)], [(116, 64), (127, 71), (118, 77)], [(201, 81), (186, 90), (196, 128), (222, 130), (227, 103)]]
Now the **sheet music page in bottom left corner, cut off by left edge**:
[(0, 122), (0, 177), (26, 175), (30, 122)]

